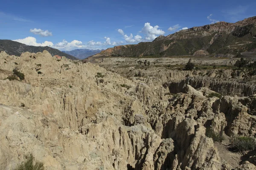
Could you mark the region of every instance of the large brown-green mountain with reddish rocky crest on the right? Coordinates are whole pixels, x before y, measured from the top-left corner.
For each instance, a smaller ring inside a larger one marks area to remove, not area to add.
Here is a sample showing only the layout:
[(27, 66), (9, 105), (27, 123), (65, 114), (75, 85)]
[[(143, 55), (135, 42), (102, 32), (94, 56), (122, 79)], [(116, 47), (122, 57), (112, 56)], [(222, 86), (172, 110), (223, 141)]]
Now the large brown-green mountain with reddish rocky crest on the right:
[(166, 37), (157, 37), (153, 42), (115, 46), (93, 57), (168, 57), (193, 54), (201, 56), (200, 50), (204, 50), (203, 55), (226, 57), (249, 51), (253, 52), (255, 57), (255, 49), (256, 17), (250, 17), (237, 23), (218, 22), (192, 27)]

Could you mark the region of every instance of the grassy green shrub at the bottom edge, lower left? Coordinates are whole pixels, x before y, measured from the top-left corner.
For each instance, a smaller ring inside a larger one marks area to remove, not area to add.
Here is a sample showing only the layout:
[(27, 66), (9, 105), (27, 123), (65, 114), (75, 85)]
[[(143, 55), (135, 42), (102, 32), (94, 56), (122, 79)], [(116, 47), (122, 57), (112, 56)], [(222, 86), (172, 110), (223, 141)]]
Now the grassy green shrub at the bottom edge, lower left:
[(44, 170), (44, 163), (35, 160), (32, 153), (24, 155), (25, 161), (15, 168), (15, 170)]

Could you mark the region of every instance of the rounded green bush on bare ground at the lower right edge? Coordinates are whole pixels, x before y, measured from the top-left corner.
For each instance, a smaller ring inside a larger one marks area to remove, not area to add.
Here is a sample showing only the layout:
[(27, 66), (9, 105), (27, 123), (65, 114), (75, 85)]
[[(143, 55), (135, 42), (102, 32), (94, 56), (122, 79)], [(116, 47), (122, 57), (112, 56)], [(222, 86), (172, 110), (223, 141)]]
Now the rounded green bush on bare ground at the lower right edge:
[(256, 140), (247, 136), (233, 136), (230, 139), (233, 150), (243, 152), (256, 149)]

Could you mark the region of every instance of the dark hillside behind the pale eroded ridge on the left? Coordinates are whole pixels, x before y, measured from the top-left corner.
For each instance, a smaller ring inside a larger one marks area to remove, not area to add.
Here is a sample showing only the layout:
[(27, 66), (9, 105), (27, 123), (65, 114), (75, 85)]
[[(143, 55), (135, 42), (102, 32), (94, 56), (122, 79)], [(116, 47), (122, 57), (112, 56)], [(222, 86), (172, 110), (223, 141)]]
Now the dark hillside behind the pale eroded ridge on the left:
[(55, 48), (51, 48), (48, 46), (37, 47), (37, 46), (22, 44), (20, 42), (16, 42), (12, 40), (0, 40), (0, 51), (6, 51), (6, 53), (9, 55), (20, 56), (24, 52), (37, 53), (37, 52), (43, 52), (44, 50), (47, 50), (52, 56), (59, 55), (59, 56), (67, 57), (68, 59), (77, 59), (76, 57), (70, 54), (66, 54)]

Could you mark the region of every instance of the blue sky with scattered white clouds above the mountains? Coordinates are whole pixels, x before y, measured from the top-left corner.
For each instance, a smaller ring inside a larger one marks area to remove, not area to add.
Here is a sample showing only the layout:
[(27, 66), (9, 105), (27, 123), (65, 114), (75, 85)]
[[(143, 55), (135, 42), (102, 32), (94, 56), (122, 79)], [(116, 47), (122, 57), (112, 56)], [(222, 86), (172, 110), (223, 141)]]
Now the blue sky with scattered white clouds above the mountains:
[(255, 0), (6, 0), (0, 39), (62, 51), (152, 41), (180, 29), (256, 15)]

